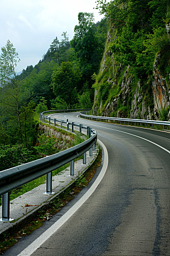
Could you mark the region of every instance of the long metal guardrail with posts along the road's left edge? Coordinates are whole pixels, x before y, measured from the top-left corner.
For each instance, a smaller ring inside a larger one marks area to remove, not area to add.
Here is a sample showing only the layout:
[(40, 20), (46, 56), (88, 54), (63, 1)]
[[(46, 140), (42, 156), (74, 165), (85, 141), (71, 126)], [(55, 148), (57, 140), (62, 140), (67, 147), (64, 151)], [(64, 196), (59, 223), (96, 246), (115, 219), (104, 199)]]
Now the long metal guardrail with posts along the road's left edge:
[[(66, 121), (45, 117), (40, 113), (40, 118), (61, 123)], [(54, 155), (46, 156), (45, 158), (35, 160), (33, 162), (22, 164), (5, 171), (0, 172), (0, 195), (2, 195), (2, 218), (1, 221), (11, 221), (10, 218), (10, 191), (18, 188), (29, 181), (37, 179), (46, 174), (46, 194), (52, 194), (52, 171), (70, 162), (70, 176), (74, 176), (74, 159), (83, 155), (83, 164), (86, 164), (86, 151), (90, 150), (90, 156), (92, 156), (92, 149), (95, 150), (95, 143), (97, 142), (97, 133), (89, 126), (83, 126), (78, 123), (67, 122), (67, 130), (71, 124), (72, 131), (74, 126), (79, 127), (80, 134), (82, 129), (87, 130), (88, 139), (74, 147), (59, 152)]]

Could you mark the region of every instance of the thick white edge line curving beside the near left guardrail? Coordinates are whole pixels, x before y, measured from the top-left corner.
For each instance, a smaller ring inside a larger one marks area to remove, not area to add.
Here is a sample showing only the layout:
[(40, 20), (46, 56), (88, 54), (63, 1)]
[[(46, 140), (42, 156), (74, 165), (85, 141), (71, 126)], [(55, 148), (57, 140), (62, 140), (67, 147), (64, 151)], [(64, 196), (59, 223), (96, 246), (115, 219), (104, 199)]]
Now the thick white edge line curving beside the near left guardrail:
[(100, 174), (95, 180), (94, 184), (88, 189), (88, 191), (79, 199), (78, 202), (73, 205), (58, 221), (56, 221), (49, 229), (47, 229), (44, 233), (41, 234), (35, 241), (33, 241), (29, 246), (27, 246), (18, 256), (30, 256), (35, 250), (37, 250), (42, 243), (44, 243), (52, 234), (54, 234), (69, 218), (78, 210), (81, 205), (92, 195), (100, 181), (103, 179), (105, 172), (108, 167), (108, 151), (105, 145), (98, 139), (97, 140), (104, 150), (104, 164), (101, 168)]

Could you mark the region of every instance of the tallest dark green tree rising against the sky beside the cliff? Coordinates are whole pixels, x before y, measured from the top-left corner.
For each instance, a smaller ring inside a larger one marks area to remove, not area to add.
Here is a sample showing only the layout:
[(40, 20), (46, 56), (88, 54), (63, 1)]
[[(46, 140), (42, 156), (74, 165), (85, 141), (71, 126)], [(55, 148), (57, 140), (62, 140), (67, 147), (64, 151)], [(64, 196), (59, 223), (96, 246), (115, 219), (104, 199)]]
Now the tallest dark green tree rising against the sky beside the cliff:
[(100, 40), (100, 32), (94, 23), (94, 14), (79, 13), (79, 24), (74, 28), (74, 38), (71, 46), (75, 49), (76, 57), (80, 59), (80, 67), (84, 80), (92, 85), (91, 76), (98, 72), (100, 60), (103, 56), (104, 42)]

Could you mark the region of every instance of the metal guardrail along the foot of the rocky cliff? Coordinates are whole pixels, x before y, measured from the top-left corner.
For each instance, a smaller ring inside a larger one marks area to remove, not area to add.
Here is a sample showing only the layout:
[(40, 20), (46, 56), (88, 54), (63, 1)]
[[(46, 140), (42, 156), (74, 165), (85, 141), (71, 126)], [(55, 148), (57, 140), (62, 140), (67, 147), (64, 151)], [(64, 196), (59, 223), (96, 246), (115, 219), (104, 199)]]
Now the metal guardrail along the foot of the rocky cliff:
[(111, 123), (114, 121), (115, 123), (117, 123), (117, 121), (124, 122), (124, 124), (126, 124), (126, 122), (128, 122), (128, 124), (130, 125), (130, 123), (134, 123), (134, 125), (136, 125), (137, 123), (140, 123), (142, 125), (142, 123), (146, 123), (147, 127), (148, 124), (152, 125), (156, 125), (157, 128), (159, 125), (163, 125), (163, 129), (165, 128), (165, 126), (170, 126), (170, 122), (168, 121), (157, 121), (157, 120), (146, 120), (146, 119), (131, 119), (131, 118), (117, 118), (117, 117), (100, 117), (99, 115), (87, 115), (84, 113), (80, 113), (80, 117), (82, 118), (87, 118), (87, 119), (91, 119), (94, 121), (101, 121), (103, 120), (103, 122), (106, 120), (108, 122), (108, 120), (111, 121)]

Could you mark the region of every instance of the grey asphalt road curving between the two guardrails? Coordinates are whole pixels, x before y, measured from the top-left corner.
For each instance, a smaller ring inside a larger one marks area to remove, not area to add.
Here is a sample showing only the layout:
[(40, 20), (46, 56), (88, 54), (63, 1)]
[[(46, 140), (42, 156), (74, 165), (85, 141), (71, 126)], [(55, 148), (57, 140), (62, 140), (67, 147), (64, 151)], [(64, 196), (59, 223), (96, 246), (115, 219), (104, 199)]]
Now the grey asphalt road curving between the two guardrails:
[[(57, 118), (69, 118), (97, 131), (108, 152), (103, 179), (33, 253), (22, 250), (48, 226), (25, 237), (5, 255), (170, 255), (170, 133), (92, 122), (76, 115), (57, 114)], [(64, 207), (52, 223), (74, 203)]]

